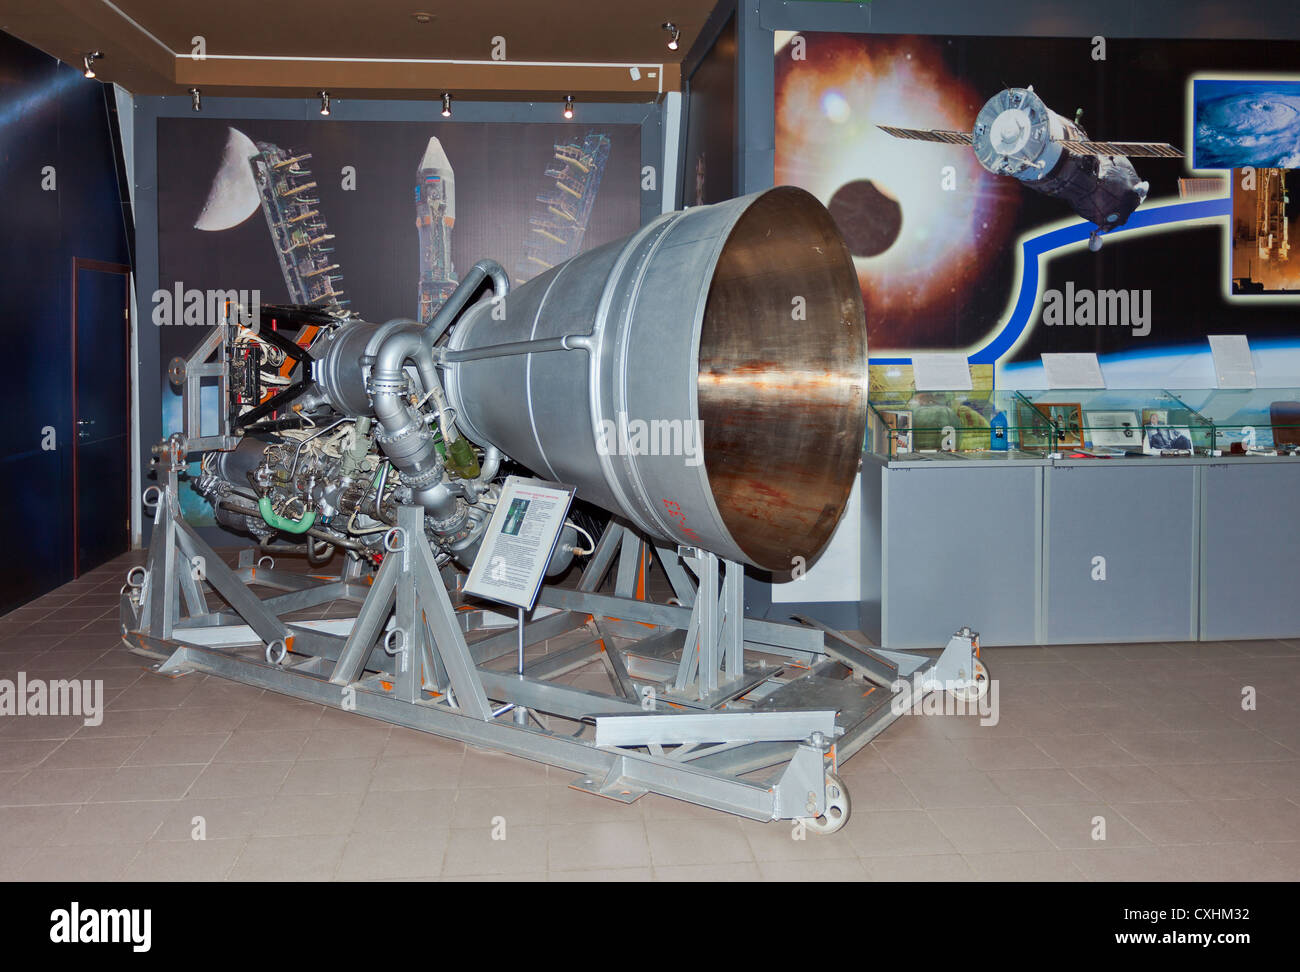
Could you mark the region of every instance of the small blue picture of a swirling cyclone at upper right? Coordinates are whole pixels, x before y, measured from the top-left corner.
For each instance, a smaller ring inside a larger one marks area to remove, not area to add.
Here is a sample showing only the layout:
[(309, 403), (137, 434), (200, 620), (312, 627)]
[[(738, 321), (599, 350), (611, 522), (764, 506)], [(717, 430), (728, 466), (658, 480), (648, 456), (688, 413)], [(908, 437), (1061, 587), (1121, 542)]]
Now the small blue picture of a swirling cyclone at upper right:
[(1196, 81), (1197, 169), (1300, 168), (1300, 81)]

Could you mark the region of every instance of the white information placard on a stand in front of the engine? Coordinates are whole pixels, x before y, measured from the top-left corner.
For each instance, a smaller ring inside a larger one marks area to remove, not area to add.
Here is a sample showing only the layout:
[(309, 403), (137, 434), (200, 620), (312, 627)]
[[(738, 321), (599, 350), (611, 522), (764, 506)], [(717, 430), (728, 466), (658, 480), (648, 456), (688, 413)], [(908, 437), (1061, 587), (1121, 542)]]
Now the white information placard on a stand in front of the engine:
[(465, 580), (465, 593), (530, 611), (573, 492), (573, 486), (508, 477)]

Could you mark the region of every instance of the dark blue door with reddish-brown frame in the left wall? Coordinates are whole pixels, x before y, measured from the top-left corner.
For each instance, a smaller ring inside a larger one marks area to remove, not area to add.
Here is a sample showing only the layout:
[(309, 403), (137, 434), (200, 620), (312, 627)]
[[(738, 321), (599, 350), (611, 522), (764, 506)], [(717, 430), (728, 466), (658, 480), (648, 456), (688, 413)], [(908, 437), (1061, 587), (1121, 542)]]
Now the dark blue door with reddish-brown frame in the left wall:
[(130, 547), (130, 269), (73, 259), (73, 576)]

